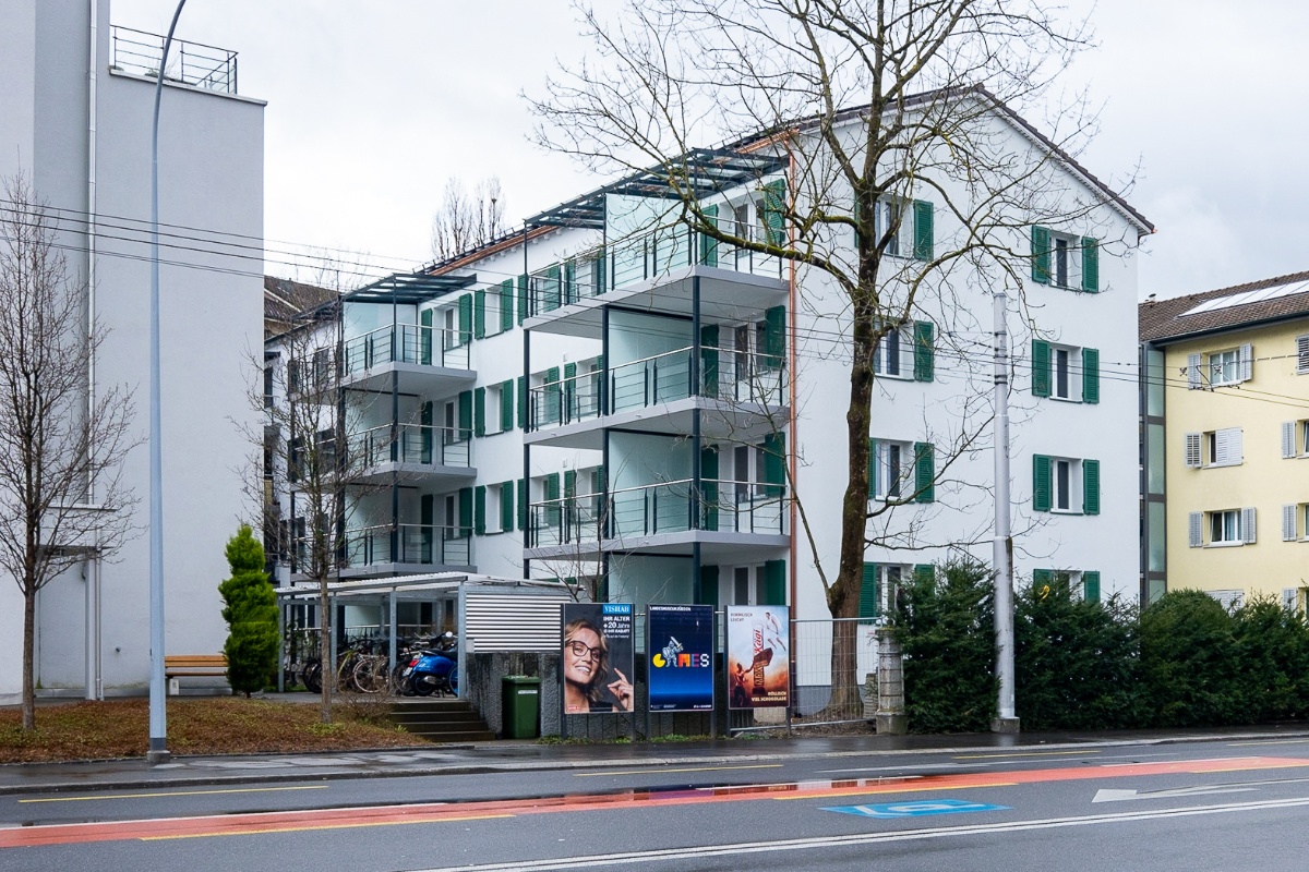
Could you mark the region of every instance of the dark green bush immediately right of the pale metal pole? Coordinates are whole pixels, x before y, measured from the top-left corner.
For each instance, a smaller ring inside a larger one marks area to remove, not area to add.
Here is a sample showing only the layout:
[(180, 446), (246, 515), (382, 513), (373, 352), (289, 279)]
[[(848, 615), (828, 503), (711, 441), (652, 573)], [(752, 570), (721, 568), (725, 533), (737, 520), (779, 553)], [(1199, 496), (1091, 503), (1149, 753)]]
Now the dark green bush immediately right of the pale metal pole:
[(1140, 726), (1136, 609), (1117, 596), (1089, 603), (1068, 577), (1014, 600), (1014, 702), (1024, 729)]

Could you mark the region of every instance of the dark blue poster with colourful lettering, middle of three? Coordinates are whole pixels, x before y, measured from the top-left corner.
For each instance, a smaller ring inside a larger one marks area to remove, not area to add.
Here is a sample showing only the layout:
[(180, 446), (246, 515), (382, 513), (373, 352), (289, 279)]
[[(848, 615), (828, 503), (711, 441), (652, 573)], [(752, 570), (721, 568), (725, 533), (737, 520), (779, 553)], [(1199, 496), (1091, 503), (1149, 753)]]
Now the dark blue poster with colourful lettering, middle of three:
[(649, 605), (651, 711), (713, 709), (713, 607)]

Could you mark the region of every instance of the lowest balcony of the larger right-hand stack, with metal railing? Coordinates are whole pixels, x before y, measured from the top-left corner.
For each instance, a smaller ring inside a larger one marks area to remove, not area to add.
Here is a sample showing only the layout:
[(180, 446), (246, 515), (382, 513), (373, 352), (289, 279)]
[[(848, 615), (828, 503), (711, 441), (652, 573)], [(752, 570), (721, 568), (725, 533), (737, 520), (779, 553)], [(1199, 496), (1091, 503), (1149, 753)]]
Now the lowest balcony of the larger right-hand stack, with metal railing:
[(690, 478), (564, 497), (529, 507), (528, 557), (589, 557), (610, 550), (716, 553), (788, 544), (784, 488), (762, 481)]

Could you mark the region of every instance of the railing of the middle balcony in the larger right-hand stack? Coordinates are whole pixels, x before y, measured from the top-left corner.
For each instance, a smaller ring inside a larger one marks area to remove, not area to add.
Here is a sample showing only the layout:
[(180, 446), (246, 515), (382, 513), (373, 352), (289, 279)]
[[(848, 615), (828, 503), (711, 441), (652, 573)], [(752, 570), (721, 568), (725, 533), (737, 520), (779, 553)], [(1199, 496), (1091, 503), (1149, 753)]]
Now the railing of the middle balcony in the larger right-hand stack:
[[(781, 405), (784, 358), (730, 349), (702, 348), (699, 386), (691, 377), (692, 348), (620, 363), (606, 373), (583, 373), (530, 391), (531, 429), (543, 430), (660, 403), (706, 396), (730, 403)], [(607, 390), (605, 390), (607, 386)], [(606, 403), (607, 400), (607, 403)]]

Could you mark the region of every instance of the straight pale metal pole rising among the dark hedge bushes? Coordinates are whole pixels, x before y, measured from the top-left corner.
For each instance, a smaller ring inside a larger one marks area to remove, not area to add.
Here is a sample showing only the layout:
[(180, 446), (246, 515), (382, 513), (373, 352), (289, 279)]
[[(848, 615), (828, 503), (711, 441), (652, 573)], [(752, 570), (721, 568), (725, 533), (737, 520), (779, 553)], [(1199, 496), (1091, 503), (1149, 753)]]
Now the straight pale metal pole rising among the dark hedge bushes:
[(1013, 705), (1013, 539), (1009, 532), (1009, 343), (1004, 292), (995, 303), (995, 672), (1000, 696), (992, 732), (1018, 732)]

